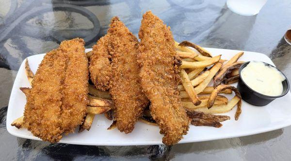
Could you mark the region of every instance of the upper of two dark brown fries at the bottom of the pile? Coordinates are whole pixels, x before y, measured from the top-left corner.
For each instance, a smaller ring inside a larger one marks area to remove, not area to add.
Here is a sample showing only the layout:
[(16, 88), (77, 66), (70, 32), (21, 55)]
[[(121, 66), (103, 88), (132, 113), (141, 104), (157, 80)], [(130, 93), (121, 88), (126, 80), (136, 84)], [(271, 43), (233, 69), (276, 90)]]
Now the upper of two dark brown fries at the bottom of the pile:
[(223, 122), (230, 119), (230, 117), (226, 115), (215, 115), (215, 114), (210, 114), (210, 113), (202, 113), (198, 111), (186, 110), (186, 113), (188, 117), (190, 118), (202, 118), (202, 119), (218, 121), (218, 122)]

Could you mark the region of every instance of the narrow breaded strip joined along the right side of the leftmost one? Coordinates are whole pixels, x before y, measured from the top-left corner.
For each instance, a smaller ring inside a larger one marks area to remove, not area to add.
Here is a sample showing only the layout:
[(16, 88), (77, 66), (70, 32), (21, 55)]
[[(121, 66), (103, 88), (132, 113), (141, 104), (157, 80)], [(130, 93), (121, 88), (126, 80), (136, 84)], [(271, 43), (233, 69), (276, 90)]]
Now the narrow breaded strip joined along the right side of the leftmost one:
[(83, 39), (63, 41), (60, 49), (67, 58), (62, 104), (62, 129), (65, 133), (83, 122), (88, 104), (88, 59)]

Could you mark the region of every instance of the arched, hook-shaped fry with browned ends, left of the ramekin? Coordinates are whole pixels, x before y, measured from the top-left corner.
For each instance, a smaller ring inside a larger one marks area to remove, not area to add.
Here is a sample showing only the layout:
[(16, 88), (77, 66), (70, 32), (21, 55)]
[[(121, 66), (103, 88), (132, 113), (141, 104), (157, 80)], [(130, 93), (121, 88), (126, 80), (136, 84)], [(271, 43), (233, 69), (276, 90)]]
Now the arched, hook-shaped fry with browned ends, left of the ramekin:
[(242, 97), (241, 97), (241, 94), (240, 94), (240, 92), (239, 92), (239, 90), (238, 90), (237, 88), (235, 88), (234, 86), (231, 86), (231, 85), (219, 85), (218, 87), (216, 87), (216, 88), (213, 90), (213, 92), (211, 93), (211, 95), (210, 95), (210, 97), (209, 97), (209, 99), (208, 99), (208, 105), (207, 105), (208, 109), (210, 109), (210, 108), (213, 106), (213, 104), (214, 104), (214, 100), (215, 100), (215, 98), (217, 97), (218, 93), (219, 93), (220, 91), (225, 90), (225, 89), (231, 89), (231, 90), (235, 93), (235, 95), (236, 95), (237, 97), (242, 98)]

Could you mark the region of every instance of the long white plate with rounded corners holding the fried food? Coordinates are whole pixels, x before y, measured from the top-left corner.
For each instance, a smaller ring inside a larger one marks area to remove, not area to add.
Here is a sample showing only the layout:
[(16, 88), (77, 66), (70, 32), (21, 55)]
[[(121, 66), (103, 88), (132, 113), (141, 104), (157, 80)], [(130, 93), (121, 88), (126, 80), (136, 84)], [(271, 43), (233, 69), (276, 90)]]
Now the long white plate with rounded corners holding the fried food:
[[(229, 59), (239, 50), (206, 48), (212, 55), (222, 55), (222, 59)], [(91, 49), (86, 49), (90, 51)], [(35, 73), (38, 64), (45, 54), (33, 55), (28, 57), (32, 71)], [(244, 51), (240, 61), (262, 61), (274, 65), (266, 55)], [(17, 73), (7, 112), (6, 127), (10, 134), (21, 138), (40, 140), (32, 135), (27, 129), (16, 129), (11, 123), (23, 115), (26, 104), (25, 95), (19, 90), (19, 87), (30, 87), (29, 81), (25, 75), (23, 61)], [(233, 84), (236, 86), (237, 84)], [(232, 95), (231, 97), (233, 97)], [(229, 97), (229, 96), (228, 96)], [(210, 141), (217, 139), (233, 138), (246, 135), (253, 135), (262, 132), (281, 129), (291, 125), (291, 94), (290, 92), (281, 98), (275, 99), (269, 105), (257, 107), (242, 102), (242, 114), (238, 121), (234, 120), (236, 107), (229, 113), (224, 113), (231, 117), (230, 120), (223, 122), (221, 128), (213, 127), (195, 127), (190, 125), (188, 134), (184, 136), (179, 143), (191, 143)], [(64, 136), (60, 143), (77, 145), (157, 145), (162, 144), (162, 135), (159, 127), (137, 122), (134, 130), (129, 133), (121, 133), (117, 129), (107, 130), (112, 121), (107, 120), (103, 114), (95, 116), (90, 131), (84, 130), (81, 133), (76, 132)]]

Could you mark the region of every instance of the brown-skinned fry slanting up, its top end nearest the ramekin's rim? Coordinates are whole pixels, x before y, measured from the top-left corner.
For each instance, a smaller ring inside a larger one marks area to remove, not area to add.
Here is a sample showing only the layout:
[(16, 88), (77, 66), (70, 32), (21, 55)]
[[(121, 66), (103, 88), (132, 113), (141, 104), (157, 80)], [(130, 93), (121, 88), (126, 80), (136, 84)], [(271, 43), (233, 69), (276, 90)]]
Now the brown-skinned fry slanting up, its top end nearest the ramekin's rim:
[(214, 81), (213, 81), (213, 86), (214, 88), (217, 87), (219, 84), (221, 84), (222, 81), (225, 80), (226, 78), (226, 75), (228, 73), (230, 73), (233, 69), (238, 69), (241, 67), (241, 65), (243, 64), (244, 62), (236, 62), (236, 63), (233, 63), (231, 65), (228, 65), (228, 66), (225, 66), (224, 68), (222, 68), (218, 74), (214, 77)]

